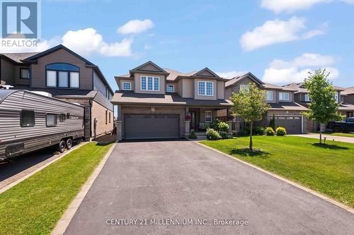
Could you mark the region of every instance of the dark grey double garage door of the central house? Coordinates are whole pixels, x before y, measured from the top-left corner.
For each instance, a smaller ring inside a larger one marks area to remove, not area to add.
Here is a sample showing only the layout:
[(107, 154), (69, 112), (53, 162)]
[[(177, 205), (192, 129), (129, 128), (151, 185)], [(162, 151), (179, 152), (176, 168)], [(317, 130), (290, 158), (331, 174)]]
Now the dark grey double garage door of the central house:
[(125, 114), (124, 120), (125, 139), (179, 137), (177, 114)]

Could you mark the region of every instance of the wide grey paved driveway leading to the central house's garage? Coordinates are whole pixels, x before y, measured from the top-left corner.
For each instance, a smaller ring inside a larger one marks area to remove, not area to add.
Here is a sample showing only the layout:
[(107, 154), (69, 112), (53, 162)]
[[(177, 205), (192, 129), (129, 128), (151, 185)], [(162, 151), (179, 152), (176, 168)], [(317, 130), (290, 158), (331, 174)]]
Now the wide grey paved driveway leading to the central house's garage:
[(115, 147), (66, 234), (352, 234), (353, 221), (347, 210), (197, 143), (132, 142)]

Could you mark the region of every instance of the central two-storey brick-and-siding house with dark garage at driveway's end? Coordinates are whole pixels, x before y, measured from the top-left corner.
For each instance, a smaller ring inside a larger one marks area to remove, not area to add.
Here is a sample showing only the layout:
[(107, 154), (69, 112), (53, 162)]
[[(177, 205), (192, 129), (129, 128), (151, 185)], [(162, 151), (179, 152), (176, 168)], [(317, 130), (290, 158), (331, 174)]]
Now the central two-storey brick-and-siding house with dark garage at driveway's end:
[(217, 110), (231, 107), (225, 100), (227, 79), (209, 68), (181, 73), (148, 61), (115, 80), (120, 89), (112, 100), (118, 110), (118, 140), (205, 131)]

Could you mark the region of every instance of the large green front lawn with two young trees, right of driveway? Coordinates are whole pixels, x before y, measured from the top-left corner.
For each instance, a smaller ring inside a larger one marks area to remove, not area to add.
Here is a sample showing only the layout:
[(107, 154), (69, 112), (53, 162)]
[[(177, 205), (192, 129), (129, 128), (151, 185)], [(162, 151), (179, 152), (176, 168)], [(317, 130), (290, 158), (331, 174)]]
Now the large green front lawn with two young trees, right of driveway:
[(261, 152), (243, 149), (249, 137), (229, 140), (204, 140), (201, 143), (238, 157), (324, 193), (354, 207), (354, 144), (295, 136), (254, 136), (253, 146)]

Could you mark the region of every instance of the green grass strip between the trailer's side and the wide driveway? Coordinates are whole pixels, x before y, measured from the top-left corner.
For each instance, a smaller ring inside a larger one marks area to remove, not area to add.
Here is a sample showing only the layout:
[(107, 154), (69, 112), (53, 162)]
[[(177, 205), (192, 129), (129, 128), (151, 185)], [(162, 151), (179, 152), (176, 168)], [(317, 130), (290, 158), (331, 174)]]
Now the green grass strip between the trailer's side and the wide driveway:
[(0, 234), (50, 234), (110, 145), (88, 143), (0, 194)]

